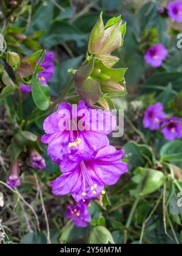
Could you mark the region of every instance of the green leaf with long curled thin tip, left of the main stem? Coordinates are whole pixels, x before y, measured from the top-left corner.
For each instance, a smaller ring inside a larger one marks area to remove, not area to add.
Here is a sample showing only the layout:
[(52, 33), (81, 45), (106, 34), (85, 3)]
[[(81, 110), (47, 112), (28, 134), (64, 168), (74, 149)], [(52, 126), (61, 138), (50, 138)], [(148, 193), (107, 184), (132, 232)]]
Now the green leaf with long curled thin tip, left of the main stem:
[(37, 77), (39, 65), (44, 60), (44, 57), (45, 57), (45, 51), (42, 53), (39, 63), (36, 66), (35, 71), (33, 72), (33, 77), (32, 77), (33, 101), (35, 102), (36, 106), (42, 111), (49, 108), (49, 104), (50, 104), (49, 87), (47, 85), (41, 86), (39, 79)]

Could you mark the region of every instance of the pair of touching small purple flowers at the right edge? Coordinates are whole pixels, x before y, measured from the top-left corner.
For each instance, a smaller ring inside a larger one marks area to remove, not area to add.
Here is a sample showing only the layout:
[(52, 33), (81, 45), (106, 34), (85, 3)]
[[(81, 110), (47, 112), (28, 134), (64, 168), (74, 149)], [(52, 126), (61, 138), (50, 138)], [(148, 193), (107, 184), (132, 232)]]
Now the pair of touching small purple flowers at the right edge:
[(177, 117), (166, 119), (163, 104), (160, 102), (147, 108), (143, 119), (143, 126), (152, 131), (161, 129), (161, 133), (169, 141), (182, 138), (182, 119)]

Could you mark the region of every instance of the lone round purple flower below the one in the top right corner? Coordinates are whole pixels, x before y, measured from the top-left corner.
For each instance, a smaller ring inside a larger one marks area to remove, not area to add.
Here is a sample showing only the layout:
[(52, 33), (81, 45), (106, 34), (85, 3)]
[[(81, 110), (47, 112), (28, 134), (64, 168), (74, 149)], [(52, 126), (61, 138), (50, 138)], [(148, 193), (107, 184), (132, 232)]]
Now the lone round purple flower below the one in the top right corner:
[(150, 64), (154, 68), (158, 68), (162, 65), (163, 60), (167, 57), (167, 49), (163, 44), (155, 44), (152, 48), (148, 49), (145, 55), (147, 64)]

